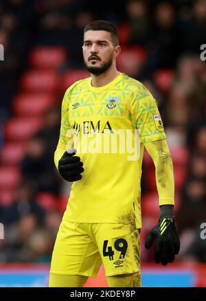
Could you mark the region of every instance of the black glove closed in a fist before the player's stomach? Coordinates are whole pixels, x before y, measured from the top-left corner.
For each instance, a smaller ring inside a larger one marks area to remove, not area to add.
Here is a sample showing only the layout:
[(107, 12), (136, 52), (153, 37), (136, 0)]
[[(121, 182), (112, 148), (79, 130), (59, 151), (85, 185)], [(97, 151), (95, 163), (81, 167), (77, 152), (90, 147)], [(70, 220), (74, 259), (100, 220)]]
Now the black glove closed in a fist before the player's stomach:
[(82, 179), (82, 173), (84, 171), (83, 163), (80, 161), (80, 157), (74, 156), (76, 150), (71, 148), (69, 153), (65, 151), (61, 159), (58, 161), (58, 171), (63, 179), (69, 182), (74, 182)]

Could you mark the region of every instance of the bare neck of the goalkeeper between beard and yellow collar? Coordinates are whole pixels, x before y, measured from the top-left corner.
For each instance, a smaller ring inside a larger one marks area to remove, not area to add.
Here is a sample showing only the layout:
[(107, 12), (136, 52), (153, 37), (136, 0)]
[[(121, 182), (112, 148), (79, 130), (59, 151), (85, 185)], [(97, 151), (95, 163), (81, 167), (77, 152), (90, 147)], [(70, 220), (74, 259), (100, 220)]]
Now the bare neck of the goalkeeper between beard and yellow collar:
[(116, 68), (108, 68), (102, 74), (91, 74), (91, 85), (95, 88), (103, 87), (113, 81), (120, 72)]

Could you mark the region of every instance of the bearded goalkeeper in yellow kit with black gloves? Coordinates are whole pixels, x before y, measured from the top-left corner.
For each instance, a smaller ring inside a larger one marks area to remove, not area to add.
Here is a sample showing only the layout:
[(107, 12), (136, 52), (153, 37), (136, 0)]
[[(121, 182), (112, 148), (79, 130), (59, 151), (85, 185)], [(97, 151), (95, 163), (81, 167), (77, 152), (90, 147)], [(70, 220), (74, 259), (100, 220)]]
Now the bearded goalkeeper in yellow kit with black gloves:
[[(170, 150), (157, 101), (141, 82), (116, 68), (121, 50), (117, 27), (107, 21), (89, 23), (82, 49), (91, 77), (65, 93), (54, 155), (60, 175), (73, 184), (54, 245), (49, 286), (83, 287), (103, 263), (109, 287), (140, 287), (144, 148), (155, 163), (160, 206), (146, 247), (155, 243), (155, 261), (162, 265), (172, 263), (179, 252)], [(128, 159), (127, 147), (115, 153), (101, 148), (103, 138), (119, 129), (130, 131), (133, 142), (139, 131), (138, 160)]]

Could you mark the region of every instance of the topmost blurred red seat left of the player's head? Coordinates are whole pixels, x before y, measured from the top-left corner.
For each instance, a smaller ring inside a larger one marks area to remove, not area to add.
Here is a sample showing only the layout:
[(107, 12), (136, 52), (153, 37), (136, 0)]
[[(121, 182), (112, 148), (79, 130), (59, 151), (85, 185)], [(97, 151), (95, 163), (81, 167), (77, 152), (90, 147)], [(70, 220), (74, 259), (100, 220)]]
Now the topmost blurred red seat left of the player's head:
[(67, 59), (62, 47), (36, 47), (30, 54), (30, 65), (38, 69), (55, 69), (60, 67)]

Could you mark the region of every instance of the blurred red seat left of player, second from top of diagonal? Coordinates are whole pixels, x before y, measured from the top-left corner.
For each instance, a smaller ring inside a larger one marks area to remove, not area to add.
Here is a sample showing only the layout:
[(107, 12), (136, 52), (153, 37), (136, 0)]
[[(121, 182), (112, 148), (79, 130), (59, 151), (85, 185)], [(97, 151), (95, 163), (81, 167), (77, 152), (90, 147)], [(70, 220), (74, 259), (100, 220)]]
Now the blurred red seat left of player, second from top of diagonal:
[(23, 91), (54, 93), (58, 82), (58, 75), (53, 70), (32, 70), (23, 74), (20, 86)]

